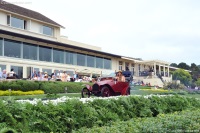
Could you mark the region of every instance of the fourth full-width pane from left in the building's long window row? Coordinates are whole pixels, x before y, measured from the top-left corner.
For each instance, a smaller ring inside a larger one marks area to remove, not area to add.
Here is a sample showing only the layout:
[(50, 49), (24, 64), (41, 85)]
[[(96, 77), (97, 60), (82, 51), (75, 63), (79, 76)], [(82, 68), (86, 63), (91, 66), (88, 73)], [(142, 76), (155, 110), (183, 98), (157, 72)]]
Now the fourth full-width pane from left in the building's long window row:
[(53, 49), (53, 62), (64, 63), (64, 51)]

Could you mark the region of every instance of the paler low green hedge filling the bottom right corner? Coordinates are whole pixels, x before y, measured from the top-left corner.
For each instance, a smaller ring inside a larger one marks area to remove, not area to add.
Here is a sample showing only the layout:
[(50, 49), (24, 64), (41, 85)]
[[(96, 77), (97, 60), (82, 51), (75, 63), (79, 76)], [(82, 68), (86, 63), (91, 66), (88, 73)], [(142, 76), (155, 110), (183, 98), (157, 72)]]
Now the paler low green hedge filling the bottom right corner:
[(200, 109), (161, 114), (156, 118), (117, 121), (110, 126), (81, 128), (73, 133), (184, 133), (200, 132)]

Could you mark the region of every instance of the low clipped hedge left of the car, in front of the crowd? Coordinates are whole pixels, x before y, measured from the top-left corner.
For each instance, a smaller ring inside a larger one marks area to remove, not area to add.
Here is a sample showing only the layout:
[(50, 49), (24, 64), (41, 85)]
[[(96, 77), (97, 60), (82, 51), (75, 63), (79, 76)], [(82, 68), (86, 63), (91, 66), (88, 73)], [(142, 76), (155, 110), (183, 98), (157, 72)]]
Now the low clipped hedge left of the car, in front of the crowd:
[[(34, 91), (43, 90), (45, 93), (64, 93), (67, 87), (68, 93), (80, 93), (84, 84), (82, 82), (53, 82), (53, 81), (3, 81), (0, 82), (0, 90), (21, 90), (21, 91)], [(89, 83), (91, 84), (91, 83)], [(92, 84), (91, 84), (92, 85)]]

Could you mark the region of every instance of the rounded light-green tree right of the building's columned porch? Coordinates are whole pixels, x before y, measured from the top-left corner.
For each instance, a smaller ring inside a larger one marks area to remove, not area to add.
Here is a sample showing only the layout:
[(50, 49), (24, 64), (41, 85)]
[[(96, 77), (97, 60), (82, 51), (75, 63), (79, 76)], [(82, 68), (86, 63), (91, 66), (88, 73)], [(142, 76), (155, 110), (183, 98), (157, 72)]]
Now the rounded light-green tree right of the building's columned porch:
[(183, 70), (183, 69), (177, 69), (173, 72), (173, 80), (180, 80), (181, 83), (188, 86), (190, 85), (192, 81), (192, 76), (189, 72)]

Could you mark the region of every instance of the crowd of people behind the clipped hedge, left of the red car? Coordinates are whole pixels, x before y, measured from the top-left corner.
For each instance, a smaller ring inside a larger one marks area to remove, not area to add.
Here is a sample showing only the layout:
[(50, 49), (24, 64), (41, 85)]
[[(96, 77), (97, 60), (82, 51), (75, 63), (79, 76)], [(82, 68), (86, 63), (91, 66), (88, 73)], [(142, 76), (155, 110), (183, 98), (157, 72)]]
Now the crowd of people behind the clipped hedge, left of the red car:
[(31, 75), (31, 80), (38, 80), (38, 81), (75, 81), (78, 79), (78, 74), (75, 72), (75, 74), (70, 76), (69, 73), (66, 71), (58, 71), (54, 70), (54, 72), (51, 75), (48, 75), (47, 72), (36, 72), (34, 71)]

